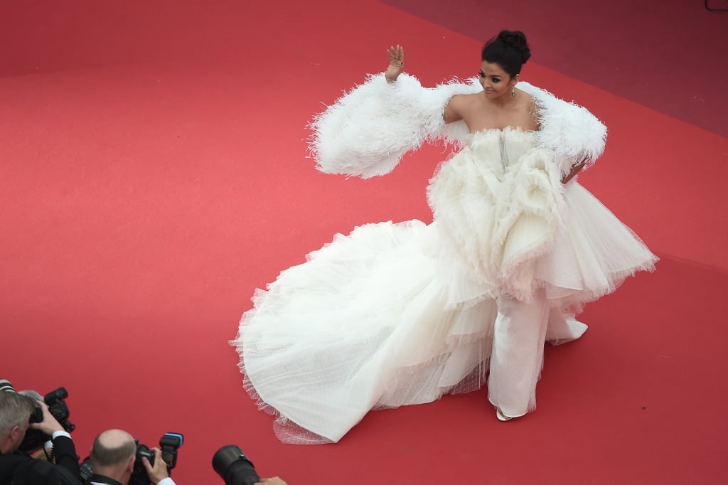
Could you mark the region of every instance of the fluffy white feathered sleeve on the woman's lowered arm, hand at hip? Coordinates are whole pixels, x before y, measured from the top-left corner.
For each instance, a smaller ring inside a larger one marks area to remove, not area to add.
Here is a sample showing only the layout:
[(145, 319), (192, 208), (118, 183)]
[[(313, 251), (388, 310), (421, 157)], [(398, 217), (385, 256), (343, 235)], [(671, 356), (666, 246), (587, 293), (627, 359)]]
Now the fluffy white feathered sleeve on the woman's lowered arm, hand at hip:
[(582, 106), (567, 103), (527, 82), (519, 82), (518, 89), (534, 98), (539, 111), (539, 145), (555, 152), (563, 175), (582, 160), (587, 166), (596, 162), (604, 151), (606, 126)]

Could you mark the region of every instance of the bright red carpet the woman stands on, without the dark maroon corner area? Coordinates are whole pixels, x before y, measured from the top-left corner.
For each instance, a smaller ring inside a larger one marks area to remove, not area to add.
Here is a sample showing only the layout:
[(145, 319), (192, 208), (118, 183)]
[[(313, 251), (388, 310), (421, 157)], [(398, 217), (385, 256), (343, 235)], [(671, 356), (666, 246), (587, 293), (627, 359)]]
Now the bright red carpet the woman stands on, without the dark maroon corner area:
[[(498, 15), (488, 32), (517, 23)], [(705, 35), (724, 39), (712, 22)], [(480, 36), (373, 0), (0, 4), (0, 378), (67, 387), (82, 457), (109, 427), (149, 445), (183, 433), (180, 485), (222, 483), (210, 460), (226, 443), (289, 484), (721, 483), (728, 140), (575, 78), (523, 30), (524, 78), (609, 126), (582, 184), (663, 258), (587, 307), (581, 341), (547, 349), (534, 414), (497, 422), (472, 393), (371, 413), (336, 445), (284, 446), (240, 385), (227, 341), (256, 287), (335, 232), (430, 221), (439, 148), (370, 181), (305, 158), (306, 122), (384, 68), (389, 44), (425, 84), (476, 72)]]

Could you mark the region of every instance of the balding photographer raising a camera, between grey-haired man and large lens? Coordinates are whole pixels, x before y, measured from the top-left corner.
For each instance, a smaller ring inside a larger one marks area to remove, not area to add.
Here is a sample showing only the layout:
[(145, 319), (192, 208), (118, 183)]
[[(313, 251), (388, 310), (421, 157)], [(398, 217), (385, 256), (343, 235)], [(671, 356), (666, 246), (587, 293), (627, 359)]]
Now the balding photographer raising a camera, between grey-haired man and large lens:
[[(122, 430), (107, 430), (96, 437), (91, 446), (92, 485), (127, 485), (129, 484), (134, 463), (136, 461), (136, 442), (134, 437)], [(162, 460), (162, 452), (158, 448), (154, 452), (154, 466), (146, 457), (142, 464), (146, 468), (149, 480), (154, 485), (175, 485), (167, 472), (167, 465)]]

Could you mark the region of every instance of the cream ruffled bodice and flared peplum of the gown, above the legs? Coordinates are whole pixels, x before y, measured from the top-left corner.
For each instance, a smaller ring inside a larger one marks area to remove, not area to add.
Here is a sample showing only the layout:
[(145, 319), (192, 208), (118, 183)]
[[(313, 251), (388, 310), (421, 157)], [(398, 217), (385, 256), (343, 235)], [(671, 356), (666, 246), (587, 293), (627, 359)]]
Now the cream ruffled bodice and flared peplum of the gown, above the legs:
[(510, 128), (475, 133), (430, 181), (439, 251), (456, 267), (451, 288), (466, 282), (471, 293), (456, 291), (448, 304), (479, 292), (530, 301), (546, 288), (552, 306), (578, 309), (654, 269), (657, 258), (596, 197), (576, 181), (561, 184), (553, 151), (536, 138)]

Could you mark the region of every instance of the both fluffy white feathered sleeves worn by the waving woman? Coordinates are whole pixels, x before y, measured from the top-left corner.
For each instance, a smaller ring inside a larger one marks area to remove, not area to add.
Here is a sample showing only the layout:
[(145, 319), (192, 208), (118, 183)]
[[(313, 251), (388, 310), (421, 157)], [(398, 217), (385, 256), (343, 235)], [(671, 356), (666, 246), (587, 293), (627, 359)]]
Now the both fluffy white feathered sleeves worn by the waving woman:
[[(596, 161), (604, 151), (606, 127), (593, 114), (527, 82), (519, 82), (518, 89), (534, 98), (539, 146), (553, 150), (563, 175), (584, 159), (587, 165)], [(477, 77), (425, 88), (404, 73), (392, 83), (384, 74), (369, 75), (314, 117), (309, 154), (324, 173), (370, 178), (391, 172), (406, 152), (426, 141), (462, 147), (467, 126), (446, 124), (445, 106), (454, 95), (481, 91)]]

